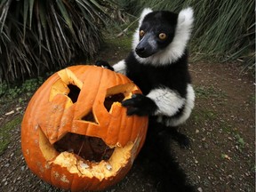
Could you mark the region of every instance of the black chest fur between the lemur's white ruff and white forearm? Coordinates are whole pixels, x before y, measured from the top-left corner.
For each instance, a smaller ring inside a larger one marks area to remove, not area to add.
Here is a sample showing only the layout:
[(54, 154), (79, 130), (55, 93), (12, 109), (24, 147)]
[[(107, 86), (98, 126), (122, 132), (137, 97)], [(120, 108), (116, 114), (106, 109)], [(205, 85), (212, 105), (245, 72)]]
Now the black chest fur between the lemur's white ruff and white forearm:
[(126, 76), (140, 87), (144, 95), (154, 88), (167, 86), (180, 93), (181, 97), (187, 94), (187, 85), (191, 83), (188, 73), (188, 51), (184, 52), (180, 60), (172, 65), (154, 66), (141, 65), (131, 52), (125, 59)]

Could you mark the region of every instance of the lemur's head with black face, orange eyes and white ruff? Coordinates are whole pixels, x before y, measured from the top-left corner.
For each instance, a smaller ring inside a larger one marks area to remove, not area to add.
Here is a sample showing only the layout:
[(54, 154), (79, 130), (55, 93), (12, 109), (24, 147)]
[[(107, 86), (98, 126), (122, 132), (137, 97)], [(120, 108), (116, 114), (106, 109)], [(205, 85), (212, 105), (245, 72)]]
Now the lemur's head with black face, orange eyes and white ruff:
[(141, 63), (166, 65), (179, 60), (185, 52), (193, 25), (193, 10), (179, 14), (144, 9), (139, 28), (133, 36), (133, 51)]

